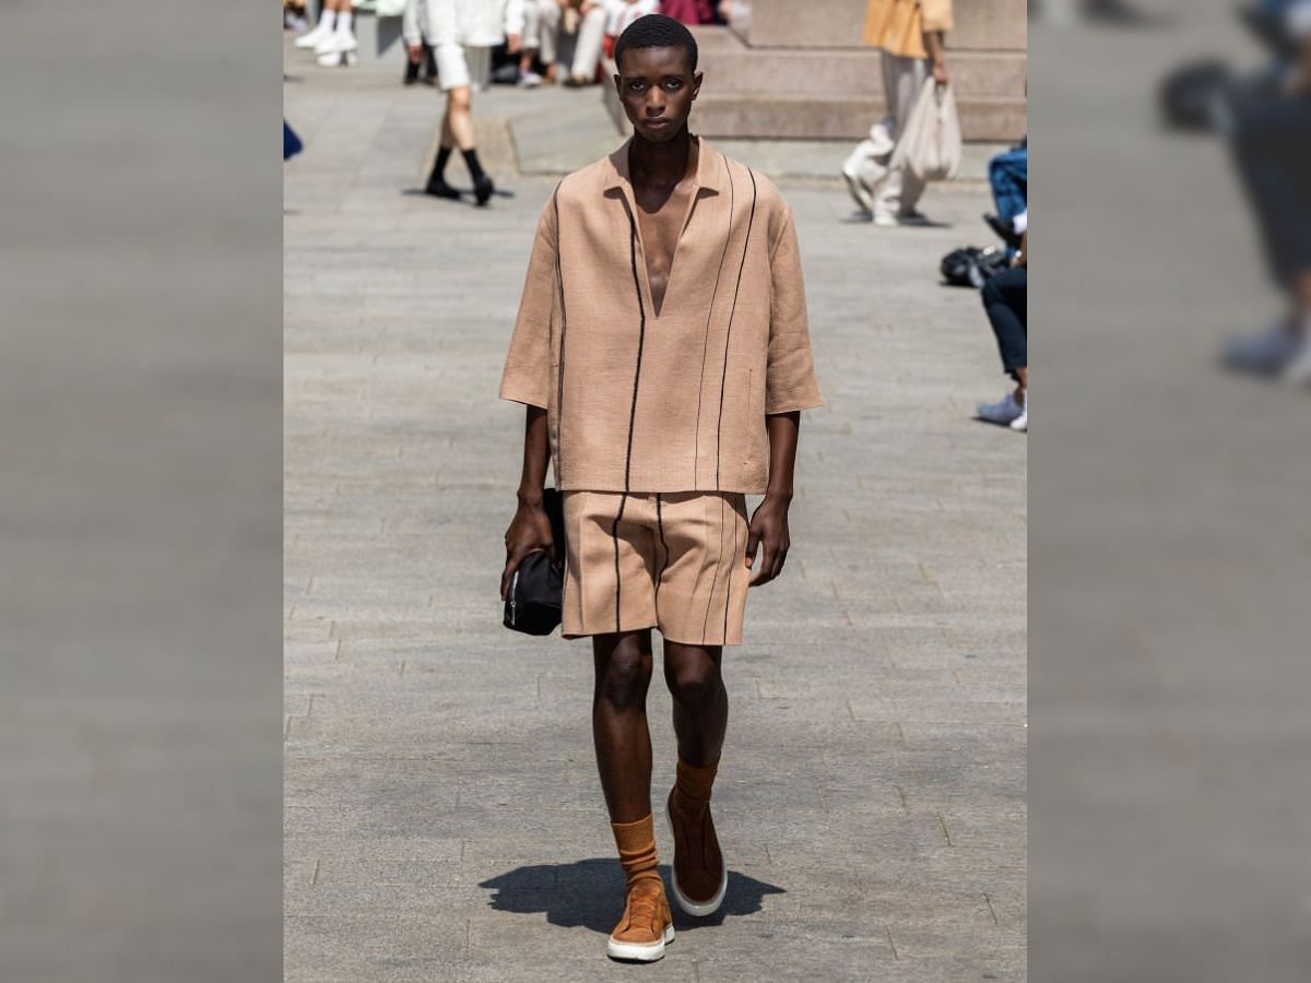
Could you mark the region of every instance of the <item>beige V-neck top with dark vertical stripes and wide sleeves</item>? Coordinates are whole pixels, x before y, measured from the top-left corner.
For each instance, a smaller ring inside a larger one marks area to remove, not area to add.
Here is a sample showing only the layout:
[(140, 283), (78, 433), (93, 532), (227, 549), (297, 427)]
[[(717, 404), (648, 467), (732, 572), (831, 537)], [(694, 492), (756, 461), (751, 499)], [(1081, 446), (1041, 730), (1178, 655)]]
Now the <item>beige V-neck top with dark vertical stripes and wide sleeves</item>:
[(628, 148), (547, 202), (501, 398), (547, 409), (562, 490), (762, 494), (766, 415), (822, 404), (792, 211), (700, 140), (657, 317)]

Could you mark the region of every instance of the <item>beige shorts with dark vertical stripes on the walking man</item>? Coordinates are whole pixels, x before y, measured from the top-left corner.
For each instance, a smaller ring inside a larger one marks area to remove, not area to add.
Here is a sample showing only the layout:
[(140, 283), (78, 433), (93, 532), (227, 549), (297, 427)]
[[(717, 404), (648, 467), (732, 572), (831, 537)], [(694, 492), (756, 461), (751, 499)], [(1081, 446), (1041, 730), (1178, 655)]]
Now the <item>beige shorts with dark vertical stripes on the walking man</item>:
[(741, 492), (565, 492), (562, 634), (658, 628), (741, 645), (751, 570)]

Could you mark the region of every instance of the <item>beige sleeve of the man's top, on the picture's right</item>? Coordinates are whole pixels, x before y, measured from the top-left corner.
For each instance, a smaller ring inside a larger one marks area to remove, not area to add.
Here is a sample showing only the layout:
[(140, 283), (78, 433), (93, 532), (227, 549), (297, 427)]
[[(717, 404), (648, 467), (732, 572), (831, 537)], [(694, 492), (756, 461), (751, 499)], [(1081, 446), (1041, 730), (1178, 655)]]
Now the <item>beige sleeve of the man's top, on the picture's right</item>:
[(770, 364), (764, 383), (764, 413), (789, 413), (823, 404), (810, 353), (806, 290), (792, 210), (784, 206), (779, 235), (770, 254)]

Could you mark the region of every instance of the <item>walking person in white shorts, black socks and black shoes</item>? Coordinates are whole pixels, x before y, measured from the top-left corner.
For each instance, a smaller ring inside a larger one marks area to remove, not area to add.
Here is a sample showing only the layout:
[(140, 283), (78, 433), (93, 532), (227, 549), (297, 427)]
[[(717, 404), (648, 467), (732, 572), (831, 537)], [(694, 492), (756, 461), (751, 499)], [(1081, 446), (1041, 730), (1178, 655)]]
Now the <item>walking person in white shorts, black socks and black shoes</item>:
[(446, 93), (437, 163), (425, 191), (437, 198), (459, 198), (446, 182), (446, 163), (455, 147), (473, 178), (473, 194), (480, 206), (492, 198), (496, 186), (482, 170), (473, 134), (473, 85), (485, 87), (492, 67), (492, 48), (502, 42), (514, 55), (523, 31), (522, 0), (425, 0), (427, 30), (437, 50), (437, 73)]

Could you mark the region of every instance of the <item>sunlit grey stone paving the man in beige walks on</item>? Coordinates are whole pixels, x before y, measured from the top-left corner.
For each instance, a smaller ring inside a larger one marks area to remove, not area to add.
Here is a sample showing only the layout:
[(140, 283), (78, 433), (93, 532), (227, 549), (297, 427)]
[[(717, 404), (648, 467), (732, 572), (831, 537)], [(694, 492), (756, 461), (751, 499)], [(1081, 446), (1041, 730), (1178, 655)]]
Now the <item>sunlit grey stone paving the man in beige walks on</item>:
[[(589, 646), (505, 630), (497, 598), (522, 410), (496, 388), (553, 183), (515, 174), (513, 138), (591, 94), (480, 96), (514, 197), (475, 210), (405, 194), (431, 90), (292, 58), (286, 978), (1021, 979), (1025, 438), (970, 419), (1004, 380), (977, 296), (936, 282), (983, 193), (935, 189), (954, 228), (888, 232), (784, 185), (827, 405), (788, 570), (726, 659), (728, 903), (624, 967)], [(656, 683), (657, 793), (669, 714)]]

